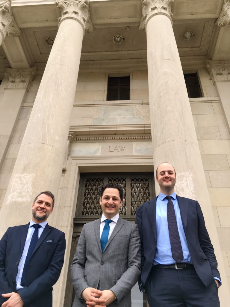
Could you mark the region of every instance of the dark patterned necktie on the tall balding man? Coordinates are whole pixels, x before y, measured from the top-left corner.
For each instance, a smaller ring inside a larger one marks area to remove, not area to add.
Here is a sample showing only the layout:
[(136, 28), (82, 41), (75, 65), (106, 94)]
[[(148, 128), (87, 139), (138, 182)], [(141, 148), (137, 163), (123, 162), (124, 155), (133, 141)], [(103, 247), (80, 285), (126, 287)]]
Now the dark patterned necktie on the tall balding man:
[(171, 244), (172, 258), (176, 262), (181, 262), (184, 256), (177, 228), (177, 220), (176, 220), (174, 205), (171, 200), (171, 196), (166, 196), (165, 198), (168, 200), (167, 219), (168, 219), (168, 231), (169, 231), (169, 239)]

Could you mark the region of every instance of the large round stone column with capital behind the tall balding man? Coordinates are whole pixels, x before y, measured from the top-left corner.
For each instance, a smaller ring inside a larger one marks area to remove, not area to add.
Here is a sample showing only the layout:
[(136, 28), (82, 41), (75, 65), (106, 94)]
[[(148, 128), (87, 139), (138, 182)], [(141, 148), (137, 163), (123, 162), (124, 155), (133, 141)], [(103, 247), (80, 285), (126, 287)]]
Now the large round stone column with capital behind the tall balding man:
[[(155, 169), (164, 161), (177, 172), (178, 195), (197, 199), (213, 242), (224, 287), (222, 306), (229, 301), (219, 240), (209, 200), (205, 174), (186, 91), (173, 28), (173, 0), (142, 0), (140, 29), (147, 34), (148, 84), (153, 161)], [(159, 186), (156, 184), (156, 193)]]

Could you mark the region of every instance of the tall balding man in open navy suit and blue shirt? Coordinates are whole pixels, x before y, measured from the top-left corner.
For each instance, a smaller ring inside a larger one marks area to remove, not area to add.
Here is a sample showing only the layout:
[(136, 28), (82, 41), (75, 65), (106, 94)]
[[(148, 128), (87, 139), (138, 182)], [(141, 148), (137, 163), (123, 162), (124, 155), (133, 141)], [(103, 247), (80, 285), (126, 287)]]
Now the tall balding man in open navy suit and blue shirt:
[(150, 307), (219, 307), (220, 274), (200, 205), (175, 194), (171, 164), (158, 166), (156, 181), (159, 196), (136, 211), (140, 289)]

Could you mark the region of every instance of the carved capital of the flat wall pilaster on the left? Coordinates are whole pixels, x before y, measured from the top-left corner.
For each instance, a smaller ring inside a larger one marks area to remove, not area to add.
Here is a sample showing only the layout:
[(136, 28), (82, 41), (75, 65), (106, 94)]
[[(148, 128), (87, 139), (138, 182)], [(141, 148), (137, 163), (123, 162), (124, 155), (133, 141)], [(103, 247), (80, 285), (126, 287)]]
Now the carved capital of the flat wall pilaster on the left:
[(26, 69), (12, 69), (6, 67), (5, 76), (8, 79), (5, 88), (22, 88), (30, 85), (36, 75), (36, 66)]

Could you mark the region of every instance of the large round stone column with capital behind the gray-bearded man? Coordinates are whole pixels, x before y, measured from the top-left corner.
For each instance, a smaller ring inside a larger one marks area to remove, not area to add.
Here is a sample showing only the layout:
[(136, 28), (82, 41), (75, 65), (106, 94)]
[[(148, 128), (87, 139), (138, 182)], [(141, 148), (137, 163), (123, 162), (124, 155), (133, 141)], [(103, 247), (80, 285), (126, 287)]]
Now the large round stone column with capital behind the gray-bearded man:
[(8, 226), (28, 222), (37, 192), (48, 189), (58, 195), (82, 38), (93, 26), (89, 0), (57, 0), (56, 5), (61, 10), (59, 29), (0, 212), (0, 236)]

